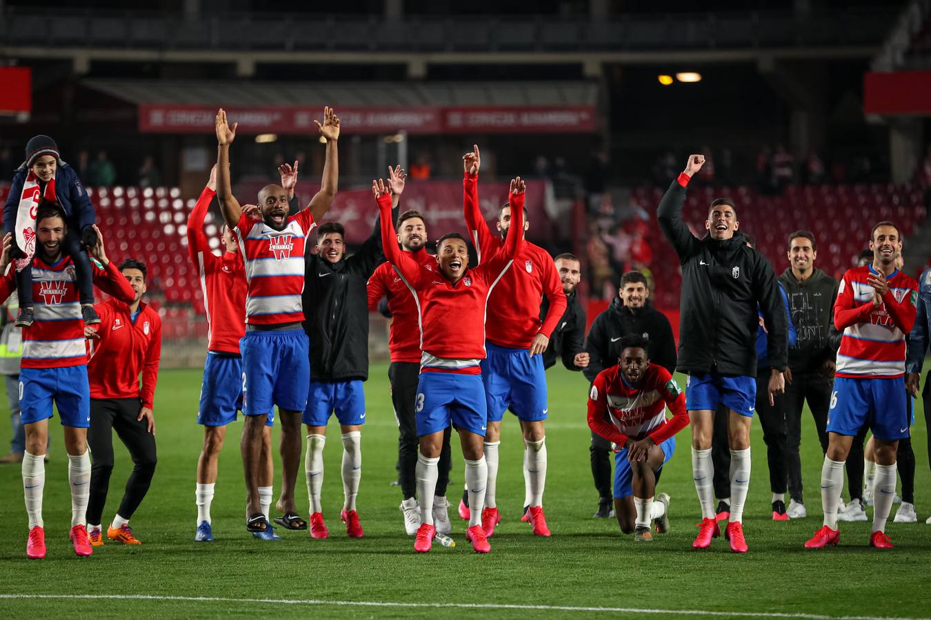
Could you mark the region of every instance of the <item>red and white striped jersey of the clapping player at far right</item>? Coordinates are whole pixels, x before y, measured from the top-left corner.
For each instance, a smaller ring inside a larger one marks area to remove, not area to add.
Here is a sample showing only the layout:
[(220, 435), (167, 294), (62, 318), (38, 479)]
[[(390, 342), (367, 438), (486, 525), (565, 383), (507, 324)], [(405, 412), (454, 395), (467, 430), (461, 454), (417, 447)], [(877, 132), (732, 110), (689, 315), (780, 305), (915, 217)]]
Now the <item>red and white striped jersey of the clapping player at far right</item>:
[(895, 378), (905, 374), (905, 335), (918, 313), (918, 283), (900, 270), (886, 281), (883, 303), (873, 303), (867, 281), (871, 265), (843, 274), (834, 302), (834, 325), (843, 330), (837, 352), (837, 376)]

